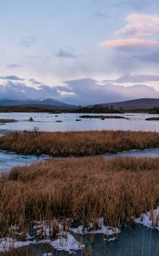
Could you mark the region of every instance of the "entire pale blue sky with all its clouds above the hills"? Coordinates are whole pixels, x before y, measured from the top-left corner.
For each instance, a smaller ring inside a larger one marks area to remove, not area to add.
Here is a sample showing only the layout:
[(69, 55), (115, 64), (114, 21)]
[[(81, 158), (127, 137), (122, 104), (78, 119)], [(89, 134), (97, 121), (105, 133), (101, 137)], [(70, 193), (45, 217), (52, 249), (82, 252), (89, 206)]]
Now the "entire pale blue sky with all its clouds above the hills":
[(0, 98), (159, 97), (158, 0), (0, 0)]

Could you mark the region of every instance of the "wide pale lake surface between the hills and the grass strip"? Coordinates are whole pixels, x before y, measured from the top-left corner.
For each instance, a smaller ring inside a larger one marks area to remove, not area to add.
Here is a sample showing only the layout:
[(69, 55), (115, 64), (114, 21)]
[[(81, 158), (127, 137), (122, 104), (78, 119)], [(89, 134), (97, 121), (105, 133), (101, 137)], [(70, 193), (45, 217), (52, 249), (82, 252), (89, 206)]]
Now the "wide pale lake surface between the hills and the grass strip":
[[(159, 114), (148, 113), (124, 113), (124, 114), (104, 114), (120, 115), (128, 119), (79, 119), (81, 113), (0, 113), (0, 119), (17, 119), (16, 123), (0, 125), (2, 131), (93, 131), (93, 130), (123, 130), (123, 131), (158, 131), (158, 121), (146, 121), (150, 117), (159, 117)], [(90, 115), (90, 114), (89, 114)], [(94, 115), (94, 114), (93, 114)], [(98, 115), (98, 114), (95, 114)], [(100, 114), (99, 114), (100, 115)], [(33, 121), (29, 119), (32, 118)], [(57, 122), (58, 121), (58, 122)], [(61, 121), (61, 122), (60, 122)]]

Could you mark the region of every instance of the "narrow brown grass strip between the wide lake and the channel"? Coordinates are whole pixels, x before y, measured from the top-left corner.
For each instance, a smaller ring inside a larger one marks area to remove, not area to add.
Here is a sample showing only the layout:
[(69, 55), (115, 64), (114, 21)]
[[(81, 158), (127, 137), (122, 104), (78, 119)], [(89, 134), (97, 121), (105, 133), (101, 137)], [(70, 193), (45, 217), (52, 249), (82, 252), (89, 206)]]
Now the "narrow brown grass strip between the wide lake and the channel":
[(0, 148), (23, 154), (88, 156), (159, 147), (159, 133), (142, 131), (21, 131), (0, 137)]

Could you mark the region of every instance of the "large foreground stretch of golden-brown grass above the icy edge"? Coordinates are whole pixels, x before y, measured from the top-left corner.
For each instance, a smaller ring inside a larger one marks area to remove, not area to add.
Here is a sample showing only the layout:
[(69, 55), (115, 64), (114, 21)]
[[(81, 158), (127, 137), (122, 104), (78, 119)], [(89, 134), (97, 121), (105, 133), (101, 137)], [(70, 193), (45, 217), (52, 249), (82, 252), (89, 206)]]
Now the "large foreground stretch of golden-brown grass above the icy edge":
[(34, 220), (105, 218), (118, 227), (159, 203), (159, 158), (47, 160), (0, 176), (0, 236)]

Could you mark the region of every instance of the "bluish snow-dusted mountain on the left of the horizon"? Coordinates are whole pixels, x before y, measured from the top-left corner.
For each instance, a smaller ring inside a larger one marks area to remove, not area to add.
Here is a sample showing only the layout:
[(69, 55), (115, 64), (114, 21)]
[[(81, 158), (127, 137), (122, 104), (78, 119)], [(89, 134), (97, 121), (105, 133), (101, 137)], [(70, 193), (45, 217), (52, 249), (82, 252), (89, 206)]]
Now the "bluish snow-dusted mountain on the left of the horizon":
[(44, 100), (12, 100), (12, 99), (0, 99), (0, 106), (2, 107), (50, 107), (50, 108), (71, 108), (73, 106), (66, 104), (65, 102), (60, 102), (52, 98)]

